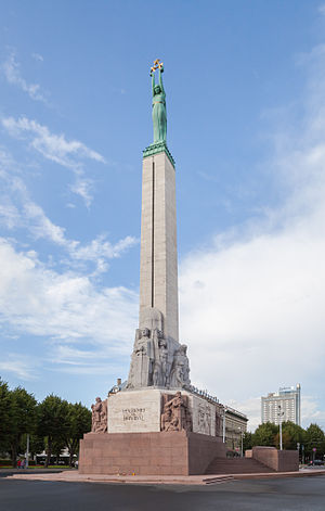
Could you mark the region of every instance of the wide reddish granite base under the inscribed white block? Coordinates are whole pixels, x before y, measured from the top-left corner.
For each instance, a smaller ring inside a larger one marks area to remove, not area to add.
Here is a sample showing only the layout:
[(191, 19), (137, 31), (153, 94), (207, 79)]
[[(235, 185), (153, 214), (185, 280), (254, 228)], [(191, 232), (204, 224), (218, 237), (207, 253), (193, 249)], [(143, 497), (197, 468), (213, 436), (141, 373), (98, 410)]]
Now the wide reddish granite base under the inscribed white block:
[(225, 452), (220, 438), (185, 431), (87, 433), (80, 440), (79, 473), (196, 475)]

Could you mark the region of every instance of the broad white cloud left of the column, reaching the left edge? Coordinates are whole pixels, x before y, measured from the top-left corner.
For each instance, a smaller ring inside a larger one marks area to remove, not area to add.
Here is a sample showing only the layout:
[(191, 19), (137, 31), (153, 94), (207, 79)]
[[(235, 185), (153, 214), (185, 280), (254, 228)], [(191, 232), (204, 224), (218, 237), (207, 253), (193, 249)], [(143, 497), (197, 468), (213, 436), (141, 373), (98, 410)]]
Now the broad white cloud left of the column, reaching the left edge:
[(0, 324), (13, 333), (51, 337), (58, 345), (90, 343), (126, 352), (136, 325), (138, 295), (125, 288), (98, 290), (87, 276), (58, 273), (35, 253), (0, 239)]

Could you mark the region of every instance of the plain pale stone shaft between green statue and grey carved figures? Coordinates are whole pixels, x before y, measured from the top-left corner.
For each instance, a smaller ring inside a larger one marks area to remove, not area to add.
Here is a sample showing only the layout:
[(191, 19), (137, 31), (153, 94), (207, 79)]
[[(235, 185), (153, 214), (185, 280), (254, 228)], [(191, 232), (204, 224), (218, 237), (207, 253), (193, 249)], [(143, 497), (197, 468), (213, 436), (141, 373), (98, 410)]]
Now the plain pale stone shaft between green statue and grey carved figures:
[(164, 334), (178, 341), (176, 171), (167, 145), (159, 145), (158, 153), (143, 157), (139, 327), (145, 327), (147, 310), (157, 308)]

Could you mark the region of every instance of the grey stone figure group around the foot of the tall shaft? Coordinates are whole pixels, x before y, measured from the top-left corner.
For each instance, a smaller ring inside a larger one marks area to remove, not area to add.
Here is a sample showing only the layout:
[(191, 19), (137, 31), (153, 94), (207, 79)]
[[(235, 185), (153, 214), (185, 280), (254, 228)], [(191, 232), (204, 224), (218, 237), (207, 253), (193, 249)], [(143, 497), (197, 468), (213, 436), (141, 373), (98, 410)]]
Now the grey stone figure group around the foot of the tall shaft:
[(183, 388), (190, 385), (187, 347), (164, 336), (162, 314), (154, 307), (142, 311), (135, 332), (127, 388), (158, 386)]

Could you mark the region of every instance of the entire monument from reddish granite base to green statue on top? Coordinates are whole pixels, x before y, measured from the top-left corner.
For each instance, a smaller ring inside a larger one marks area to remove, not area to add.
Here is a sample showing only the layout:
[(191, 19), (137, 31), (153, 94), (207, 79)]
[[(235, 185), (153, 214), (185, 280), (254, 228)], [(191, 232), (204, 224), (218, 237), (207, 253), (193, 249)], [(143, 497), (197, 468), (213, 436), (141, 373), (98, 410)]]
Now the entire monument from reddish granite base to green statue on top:
[[(159, 81), (155, 82), (155, 71)], [(192, 392), (179, 342), (174, 161), (166, 142), (162, 63), (151, 69), (154, 142), (143, 151), (140, 312), (126, 387), (93, 405), (82, 473), (198, 474), (225, 457), (217, 407)], [(199, 455), (199, 456), (198, 456)]]

